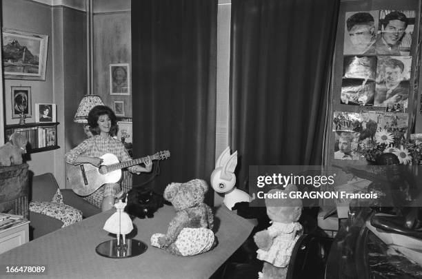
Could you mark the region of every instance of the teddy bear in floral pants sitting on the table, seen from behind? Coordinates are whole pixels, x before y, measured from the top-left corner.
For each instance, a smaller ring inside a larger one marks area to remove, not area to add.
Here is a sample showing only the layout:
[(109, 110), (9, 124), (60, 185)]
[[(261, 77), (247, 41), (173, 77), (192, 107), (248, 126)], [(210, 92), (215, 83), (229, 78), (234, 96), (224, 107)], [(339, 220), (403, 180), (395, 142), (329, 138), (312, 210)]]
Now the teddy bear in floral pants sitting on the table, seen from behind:
[(212, 249), (217, 242), (212, 227), (214, 215), (203, 203), (208, 184), (201, 179), (187, 183), (170, 183), (163, 197), (172, 203), (176, 216), (168, 225), (167, 234), (153, 234), (151, 245), (177, 256), (193, 256)]

